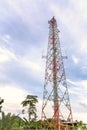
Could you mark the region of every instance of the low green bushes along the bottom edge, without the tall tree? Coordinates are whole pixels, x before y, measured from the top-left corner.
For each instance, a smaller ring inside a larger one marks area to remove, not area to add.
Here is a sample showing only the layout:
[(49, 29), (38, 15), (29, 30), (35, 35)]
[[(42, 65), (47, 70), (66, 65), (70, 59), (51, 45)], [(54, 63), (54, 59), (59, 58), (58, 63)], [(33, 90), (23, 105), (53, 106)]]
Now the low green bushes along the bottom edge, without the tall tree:
[[(48, 119), (48, 121), (52, 123), (51, 119)], [(0, 120), (0, 130), (36, 130), (41, 129), (41, 123), (41, 120), (29, 121), (26, 118), (21, 119), (18, 115), (12, 115), (11, 113), (5, 115), (5, 113), (2, 112), (2, 120)], [(46, 121), (43, 121), (42, 124), (42, 127), (44, 129), (48, 129)], [(55, 129), (52, 124), (51, 128), (52, 130)], [(78, 128), (80, 128), (81, 130), (87, 130), (86, 124), (84, 124), (82, 121), (77, 121), (72, 130), (77, 130)]]

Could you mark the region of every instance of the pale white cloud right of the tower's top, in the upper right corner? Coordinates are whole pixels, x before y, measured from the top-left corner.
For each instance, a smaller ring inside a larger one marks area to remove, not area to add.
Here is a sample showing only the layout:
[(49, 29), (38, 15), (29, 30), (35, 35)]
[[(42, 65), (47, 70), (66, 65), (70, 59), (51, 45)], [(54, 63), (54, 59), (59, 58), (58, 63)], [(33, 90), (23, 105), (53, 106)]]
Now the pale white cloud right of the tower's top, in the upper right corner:
[[(73, 9), (70, 7), (67, 9), (62, 9), (58, 4), (56, 5), (52, 4), (50, 8), (52, 12), (54, 12), (54, 15), (61, 20), (61, 22), (63, 23), (63, 26), (66, 26), (67, 30), (69, 30), (70, 34), (73, 36), (75, 45), (74, 43), (72, 43), (72, 48), (74, 48), (74, 51), (76, 51), (77, 49), (77, 52), (81, 53), (81, 50), (82, 52), (84, 52), (84, 47), (86, 47), (86, 44), (84, 42), (84, 41), (87, 41), (86, 29), (84, 27), (86, 25), (84, 23), (85, 20), (83, 21), (82, 19), (83, 13), (79, 12), (81, 11), (78, 7), (79, 2), (74, 1), (73, 3), (74, 3)], [(77, 8), (78, 8), (78, 11), (76, 10)], [(87, 8), (85, 12), (87, 12)], [(84, 15), (87, 16), (86, 13)]]

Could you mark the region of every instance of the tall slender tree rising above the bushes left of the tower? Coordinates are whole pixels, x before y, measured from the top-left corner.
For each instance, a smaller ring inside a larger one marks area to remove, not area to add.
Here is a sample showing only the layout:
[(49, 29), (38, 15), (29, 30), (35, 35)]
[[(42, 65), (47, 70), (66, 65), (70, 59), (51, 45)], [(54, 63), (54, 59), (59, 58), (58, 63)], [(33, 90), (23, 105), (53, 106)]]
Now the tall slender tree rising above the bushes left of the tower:
[[(23, 107), (28, 107), (27, 112), (28, 112), (28, 121), (34, 121), (37, 118), (36, 115), (36, 103), (38, 102), (37, 100), (37, 96), (33, 96), (33, 95), (27, 95), (26, 99), (24, 101), (22, 101), (22, 105)], [(23, 109), (24, 112), (24, 109)]]

